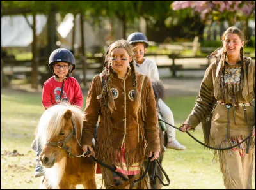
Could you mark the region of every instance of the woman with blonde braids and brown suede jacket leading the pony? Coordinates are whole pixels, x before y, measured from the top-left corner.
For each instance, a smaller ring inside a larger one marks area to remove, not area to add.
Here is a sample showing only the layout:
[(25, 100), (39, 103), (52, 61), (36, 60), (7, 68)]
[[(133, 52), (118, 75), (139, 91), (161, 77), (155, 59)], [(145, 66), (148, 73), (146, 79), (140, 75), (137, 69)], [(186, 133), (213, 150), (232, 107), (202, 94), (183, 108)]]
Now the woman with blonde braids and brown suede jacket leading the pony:
[[(136, 73), (132, 47), (125, 40), (112, 43), (104, 70), (90, 85), (84, 110), (82, 145), (93, 155), (92, 138), (99, 117), (95, 156), (116, 166), (129, 177), (124, 182), (115, 172), (100, 166), (106, 189), (148, 189), (147, 178), (130, 187), (143, 171), (143, 158), (159, 157), (159, 127), (152, 84)], [(148, 154), (149, 153), (149, 154)], [(89, 155), (90, 156), (90, 155)]]

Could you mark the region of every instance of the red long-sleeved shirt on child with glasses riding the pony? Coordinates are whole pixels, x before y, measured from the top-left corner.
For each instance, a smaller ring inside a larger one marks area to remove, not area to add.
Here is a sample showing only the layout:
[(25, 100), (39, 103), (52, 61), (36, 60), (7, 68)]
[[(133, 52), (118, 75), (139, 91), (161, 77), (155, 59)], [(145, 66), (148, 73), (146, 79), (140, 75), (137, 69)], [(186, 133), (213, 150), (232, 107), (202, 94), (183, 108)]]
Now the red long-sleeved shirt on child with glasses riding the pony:
[[(44, 108), (48, 108), (60, 102), (61, 86), (62, 82), (54, 80), (53, 76), (44, 82), (42, 93), (42, 104)], [(67, 101), (81, 108), (83, 107), (83, 92), (76, 78), (68, 77), (67, 80), (64, 81), (62, 101)]]

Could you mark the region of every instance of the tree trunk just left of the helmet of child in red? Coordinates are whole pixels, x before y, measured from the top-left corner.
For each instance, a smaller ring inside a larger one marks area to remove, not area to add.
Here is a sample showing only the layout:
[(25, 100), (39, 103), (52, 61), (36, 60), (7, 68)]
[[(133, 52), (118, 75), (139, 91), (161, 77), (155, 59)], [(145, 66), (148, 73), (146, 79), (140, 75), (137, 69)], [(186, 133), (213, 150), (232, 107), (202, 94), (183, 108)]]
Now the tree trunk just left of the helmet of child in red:
[(32, 43), (33, 61), (31, 64), (31, 87), (38, 89), (38, 59), (36, 55), (36, 13), (33, 12), (33, 43)]

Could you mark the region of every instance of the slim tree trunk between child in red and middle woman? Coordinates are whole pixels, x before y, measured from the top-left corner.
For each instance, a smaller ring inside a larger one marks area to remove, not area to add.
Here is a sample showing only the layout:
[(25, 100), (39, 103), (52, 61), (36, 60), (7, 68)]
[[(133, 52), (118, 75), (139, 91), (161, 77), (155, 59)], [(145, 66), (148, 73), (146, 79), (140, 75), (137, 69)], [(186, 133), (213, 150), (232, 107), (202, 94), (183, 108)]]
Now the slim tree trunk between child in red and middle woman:
[(87, 82), (86, 82), (86, 52), (85, 52), (85, 43), (84, 43), (84, 15), (81, 13), (80, 14), (80, 26), (81, 26), (81, 64), (83, 65), (83, 84), (84, 87), (86, 87)]

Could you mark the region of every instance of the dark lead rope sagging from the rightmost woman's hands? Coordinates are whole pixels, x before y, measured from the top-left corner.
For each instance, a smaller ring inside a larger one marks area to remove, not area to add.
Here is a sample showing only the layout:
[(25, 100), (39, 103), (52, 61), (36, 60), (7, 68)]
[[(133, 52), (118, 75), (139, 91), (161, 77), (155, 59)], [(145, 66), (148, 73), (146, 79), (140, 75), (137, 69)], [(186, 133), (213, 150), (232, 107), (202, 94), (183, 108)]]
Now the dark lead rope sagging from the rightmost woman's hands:
[[(169, 126), (172, 126), (173, 128), (183, 132), (181, 129), (173, 126), (172, 124), (169, 124), (168, 122), (164, 121), (163, 119), (158, 119), (159, 121), (163, 121), (165, 124), (168, 124)], [(247, 142), (247, 147), (246, 147), (246, 153), (249, 153), (249, 147), (250, 147), (250, 141), (251, 141), (251, 137), (252, 137), (252, 133), (250, 133), (249, 136), (247, 136), (246, 138), (244, 138), (244, 140), (242, 140), (241, 142), (237, 143), (236, 145), (233, 145), (231, 147), (226, 147), (226, 148), (216, 148), (216, 147), (210, 147), (208, 145), (205, 145), (205, 143), (200, 142), (199, 140), (197, 140), (193, 135), (191, 135), (188, 130), (186, 129), (186, 133), (188, 133), (189, 136), (191, 136), (191, 138), (193, 138), (196, 142), (200, 143), (201, 145), (204, 145), (205, 147), (207, 147), (208, 149), (213, 149), (213, 150), (227, 150), (227, 149), (232, 149), (234, 147), (237, 147), (238, 145), (241, 145), (241, 143), (245, 142), (246, 140), (248, 140)]]

